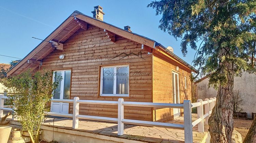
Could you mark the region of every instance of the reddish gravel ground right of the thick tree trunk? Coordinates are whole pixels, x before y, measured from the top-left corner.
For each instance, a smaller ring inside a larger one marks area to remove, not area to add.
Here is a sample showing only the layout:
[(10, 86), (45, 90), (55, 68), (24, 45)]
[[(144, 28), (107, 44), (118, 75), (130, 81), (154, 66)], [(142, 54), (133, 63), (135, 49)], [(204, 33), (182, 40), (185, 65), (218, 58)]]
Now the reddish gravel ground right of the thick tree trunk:
[(252, 123), (253, 120), (234, 119), (234, 129), (241, 133), (243, 140), (247, 132), (249, 131)]

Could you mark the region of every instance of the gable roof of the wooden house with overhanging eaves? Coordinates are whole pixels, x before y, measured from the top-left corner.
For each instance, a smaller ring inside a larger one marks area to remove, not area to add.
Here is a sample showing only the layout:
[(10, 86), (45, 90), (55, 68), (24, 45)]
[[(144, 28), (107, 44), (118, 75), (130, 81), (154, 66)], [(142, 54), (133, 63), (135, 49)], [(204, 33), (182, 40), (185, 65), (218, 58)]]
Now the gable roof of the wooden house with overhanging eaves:
[(129, 32), (104, 21), (87, 16), (79, 11), (74, 11), (64, 22), (60, 24), (60, 26), (58, 26), (49, 36), (47, 36), (44, 41), (42, 41), (37, 47), (35, 47), (30, 53), (28, 53), (25, 58), (19, 61), (14, 67), (12, 67), (8, 71), (8, 73), (6, 73), (6, 76), (9, 77), (11, 75), (20, 74), (28, 68), (32, 68), (32, 70), (37, 68), (41, 63), (41, 60), (54, 50), (52, 48), (52, 45), (46, 41), (55, 41), (58, 43), (65, 42), (72, 34), (74, 34), (78, 29), (82, 27), (81, 22), (86, 22), (86, 24), (88, 23), (90, 25), (105, 29), (116, 35), (130, 39), (131, 41), (144, 44), (150, 48), (162, 48), (177, 61), (191, 68), (191, 70), (195, 73), (198, 73), (195, 68), (190, 66), (187, 62), (179, 58), (177, 55), (169, 51), (167, 48), (165, 48), (155, 40), (133, 32)]

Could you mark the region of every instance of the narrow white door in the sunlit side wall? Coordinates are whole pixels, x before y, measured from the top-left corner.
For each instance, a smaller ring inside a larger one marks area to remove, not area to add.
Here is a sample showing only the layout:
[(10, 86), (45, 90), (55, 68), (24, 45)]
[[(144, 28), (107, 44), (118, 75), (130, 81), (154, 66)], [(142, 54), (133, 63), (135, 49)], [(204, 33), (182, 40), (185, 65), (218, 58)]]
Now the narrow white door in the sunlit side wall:
[[(172, 93), (173, 93), (173, 103), (180, 103), (180, 90), (179, 90), (179, 74), (172, 72)], [(180, 109), (173, 108), (173, 115), (179, 116)]]

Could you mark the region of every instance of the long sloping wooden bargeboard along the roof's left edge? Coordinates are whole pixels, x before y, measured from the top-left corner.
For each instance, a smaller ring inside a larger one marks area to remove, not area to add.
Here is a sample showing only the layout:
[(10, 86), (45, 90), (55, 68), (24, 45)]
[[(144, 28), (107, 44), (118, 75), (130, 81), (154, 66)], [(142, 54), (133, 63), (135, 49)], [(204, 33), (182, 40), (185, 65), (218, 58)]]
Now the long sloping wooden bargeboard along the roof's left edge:
[(59, 34), (61, 30), (66, 28), (69, 23), (74, 20), (74, 17), (67, 18), (55, 31), (53, 31), (48, 37), (45, 38), (45, 41), (41, 42), (34, 50), (32, 50), (24, 59), (22, 59), (19, 63), (17, 63), (9, 72), (6, 73), (6, 76), (9, 77), (13, 74), (20, 66), (27, 62), (27, 60), (31, 59), (38, 51), (40, 51), (51, 39), (53, 39), (56, 35)]

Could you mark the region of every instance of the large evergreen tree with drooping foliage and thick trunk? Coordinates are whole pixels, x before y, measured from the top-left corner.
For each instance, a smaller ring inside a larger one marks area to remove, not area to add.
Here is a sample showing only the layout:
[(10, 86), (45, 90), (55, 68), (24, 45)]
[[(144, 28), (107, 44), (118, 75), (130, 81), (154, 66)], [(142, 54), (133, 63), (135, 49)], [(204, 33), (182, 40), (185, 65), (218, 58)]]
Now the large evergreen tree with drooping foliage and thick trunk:
[(230, 143), (234, 76), (240, 76), (243, 70), (255, 72), (248, 58), (255, 55), (256, 1), (160, 0), (148, 7), (162, 15), (161, 30), (182, 38), (184, 56), (189, 46), (197, 50), (195, 65), (202, 74), (211, 74), (209, 86), (218, 88), (209, 118), (211, 142)]

